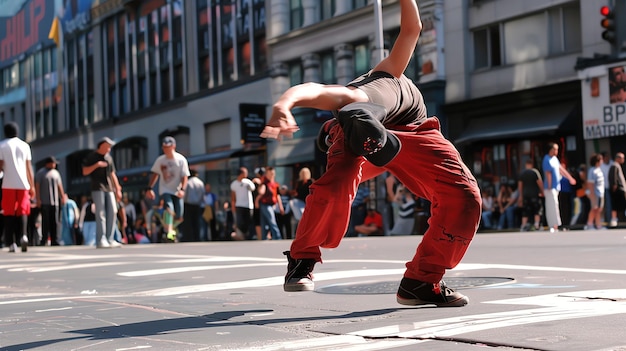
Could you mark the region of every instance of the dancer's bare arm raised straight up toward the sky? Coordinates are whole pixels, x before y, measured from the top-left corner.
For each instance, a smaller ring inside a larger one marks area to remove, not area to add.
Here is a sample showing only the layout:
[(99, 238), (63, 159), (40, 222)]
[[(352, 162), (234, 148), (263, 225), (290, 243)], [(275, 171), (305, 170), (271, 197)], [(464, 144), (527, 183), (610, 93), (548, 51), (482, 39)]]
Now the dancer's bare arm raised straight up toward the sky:
[(422, 20), (416, 0), (400, 0), (400, 33), (389, 56), (374, 71), (384, 71), (398, 78), (409, 65), (422, 31)]

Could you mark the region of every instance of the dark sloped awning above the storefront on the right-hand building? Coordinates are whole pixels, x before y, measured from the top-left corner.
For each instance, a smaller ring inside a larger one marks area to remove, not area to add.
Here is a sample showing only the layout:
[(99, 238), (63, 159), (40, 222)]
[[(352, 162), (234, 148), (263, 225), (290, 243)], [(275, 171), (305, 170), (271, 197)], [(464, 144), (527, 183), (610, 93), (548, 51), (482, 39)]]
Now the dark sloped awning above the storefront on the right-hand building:
[(455, 144), (479, 140), (553, 134), (574, 111), (572, 104), (535, 107), (493, 117), (472, 119)]

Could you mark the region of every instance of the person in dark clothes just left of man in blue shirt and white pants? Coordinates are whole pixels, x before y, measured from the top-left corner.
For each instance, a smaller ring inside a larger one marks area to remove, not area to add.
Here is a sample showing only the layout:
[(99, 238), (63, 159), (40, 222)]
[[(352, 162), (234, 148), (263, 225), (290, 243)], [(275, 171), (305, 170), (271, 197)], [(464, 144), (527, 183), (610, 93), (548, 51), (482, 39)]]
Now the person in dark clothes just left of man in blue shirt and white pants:
[[(538, 230), (541, 222), (541, 198), (543, 197), (543, 179), (533, 165), (533, 160), (528, 159), (524, 170), (517, 181), (517, 190), (520, 196), (517, 206), (522, 209), (521, 231)], [(533, 222), (529, 222), (533, 220)]]

